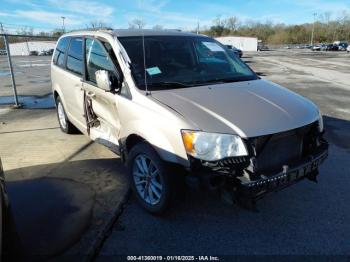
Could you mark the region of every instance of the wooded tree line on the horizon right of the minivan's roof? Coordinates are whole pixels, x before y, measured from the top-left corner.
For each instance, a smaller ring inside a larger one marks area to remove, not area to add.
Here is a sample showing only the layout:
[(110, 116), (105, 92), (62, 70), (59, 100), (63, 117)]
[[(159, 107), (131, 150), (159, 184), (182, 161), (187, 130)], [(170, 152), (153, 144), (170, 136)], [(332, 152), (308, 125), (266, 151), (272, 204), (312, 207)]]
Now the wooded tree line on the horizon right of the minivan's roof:
[[(218, 36), (257, 37), (268, 44), (307, 44), (311, 41), (314, 30), (314, 43), (332, 43), (334, 41), (350, 42), (350, 13), (343, 12), (332, 19), (330, 12), (319, 15), (315, 23), (286, 25), (269, 21), (246, 21), (241, 23), (235, 16), (217, 17), (211, 26), (200, 30), (202, 34)], [(193, 30), (196, 31), (196, 30)]]

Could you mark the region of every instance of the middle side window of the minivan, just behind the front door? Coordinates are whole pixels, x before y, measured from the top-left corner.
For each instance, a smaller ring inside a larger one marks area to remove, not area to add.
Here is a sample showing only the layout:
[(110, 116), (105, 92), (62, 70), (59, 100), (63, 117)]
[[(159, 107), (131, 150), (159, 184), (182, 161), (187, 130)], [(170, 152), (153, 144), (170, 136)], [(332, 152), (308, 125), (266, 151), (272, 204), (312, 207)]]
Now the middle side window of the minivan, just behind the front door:
[(78, 75), (83, 74), (83, 40), (72, 38), (67, 55), (67, 69)]

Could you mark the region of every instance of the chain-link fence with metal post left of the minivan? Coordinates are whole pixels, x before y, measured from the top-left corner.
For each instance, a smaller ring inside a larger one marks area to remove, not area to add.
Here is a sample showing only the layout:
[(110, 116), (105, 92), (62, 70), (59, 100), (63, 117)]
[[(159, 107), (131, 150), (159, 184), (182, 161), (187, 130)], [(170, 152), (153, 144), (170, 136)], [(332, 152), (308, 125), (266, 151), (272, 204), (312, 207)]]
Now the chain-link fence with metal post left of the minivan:
[(50, 62), (57, 38), (0, 35), (0, 105), (26, 106), (51, 94)]

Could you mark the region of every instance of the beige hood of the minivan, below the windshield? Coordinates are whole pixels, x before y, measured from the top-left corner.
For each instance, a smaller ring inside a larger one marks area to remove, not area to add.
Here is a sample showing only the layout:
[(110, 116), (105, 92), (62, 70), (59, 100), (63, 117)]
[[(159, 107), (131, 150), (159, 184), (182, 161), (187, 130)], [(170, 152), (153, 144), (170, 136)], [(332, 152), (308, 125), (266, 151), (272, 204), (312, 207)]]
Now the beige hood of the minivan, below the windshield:
[(198, 130), (257, 137), (308, 125), (319, 118), (306, 98), (265, 80), (152, 91)]

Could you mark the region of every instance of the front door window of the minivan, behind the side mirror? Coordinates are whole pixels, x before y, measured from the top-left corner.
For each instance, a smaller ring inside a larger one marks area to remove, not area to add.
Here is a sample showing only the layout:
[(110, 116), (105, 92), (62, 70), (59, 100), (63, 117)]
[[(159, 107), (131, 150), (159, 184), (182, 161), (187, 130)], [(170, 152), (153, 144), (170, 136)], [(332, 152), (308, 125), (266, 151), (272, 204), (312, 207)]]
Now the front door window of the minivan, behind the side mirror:
[(88, 81), (96, 83), (95, 72), (98, 70), (106, 70), (114, 72), (113, 62), (108, 57), (108, 53), (104, 46), (97, 40), (86, 39), (86, 68)]

